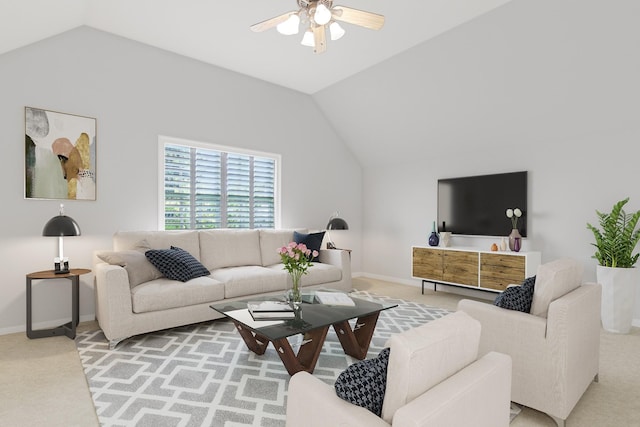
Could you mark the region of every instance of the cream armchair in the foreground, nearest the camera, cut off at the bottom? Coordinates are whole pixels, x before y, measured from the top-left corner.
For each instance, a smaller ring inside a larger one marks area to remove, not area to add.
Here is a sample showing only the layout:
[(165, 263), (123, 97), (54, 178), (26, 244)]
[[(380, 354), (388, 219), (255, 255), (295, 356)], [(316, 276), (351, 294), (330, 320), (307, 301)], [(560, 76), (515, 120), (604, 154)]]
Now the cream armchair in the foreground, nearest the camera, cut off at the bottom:
[(511, 360), (478, 359), (480, 324), (453, 313), (392, 336), (382, 417), (307, 372), (289, 383), (287, 427), (509, 425)]

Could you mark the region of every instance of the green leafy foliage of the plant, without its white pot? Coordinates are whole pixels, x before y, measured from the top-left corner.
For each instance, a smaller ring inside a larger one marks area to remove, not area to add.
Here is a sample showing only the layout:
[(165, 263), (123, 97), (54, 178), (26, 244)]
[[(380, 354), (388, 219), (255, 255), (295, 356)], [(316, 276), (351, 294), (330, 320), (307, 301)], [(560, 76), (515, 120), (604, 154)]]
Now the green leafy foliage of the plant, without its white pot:
[(628, 197), (620, 200), (613, 205), (611, 213), (596, 211), (601, 229), (587, 223), (587, 228), (593, 232), (596, 239), (596, 242), (592, 243), (597, 248), (593, 258), (604, 267), (631, 268), (640, 256), (633, 255), (640, 240), (640, 230), (635, 229), (640, 219), (640, 211), (627, 214), (623, 207), (628, 201)]

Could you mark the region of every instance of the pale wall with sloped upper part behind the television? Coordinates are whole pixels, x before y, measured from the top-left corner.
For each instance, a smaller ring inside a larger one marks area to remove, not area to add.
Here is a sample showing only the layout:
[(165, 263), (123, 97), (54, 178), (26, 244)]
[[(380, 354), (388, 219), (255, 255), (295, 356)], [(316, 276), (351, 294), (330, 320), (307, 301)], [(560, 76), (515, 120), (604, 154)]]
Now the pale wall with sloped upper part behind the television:
[(595, 280), (586, 223), (625, 197), (640, 209), (638, 16), (634, 0), (514, 1), (314, 95), (365, 165), (363, 270), (417, 286), (437, 180), (527, 170), (524, 250)]

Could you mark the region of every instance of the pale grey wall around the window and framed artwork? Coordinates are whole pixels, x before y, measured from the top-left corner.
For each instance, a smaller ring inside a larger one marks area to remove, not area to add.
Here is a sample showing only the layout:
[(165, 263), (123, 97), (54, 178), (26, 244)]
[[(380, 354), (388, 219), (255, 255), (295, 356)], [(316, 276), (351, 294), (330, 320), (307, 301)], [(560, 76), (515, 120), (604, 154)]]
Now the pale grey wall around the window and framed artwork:
[[(25, 274), (51, 269), (57, 254), (41, 233), (59, 202), (24, 199), (25, 106), (97, 118), (97, 201), (65, 202), (82, 229), (65, 239), (72, 267), (90, 268), (117, 230), (157, 229), (167, 135), (280, 153), (282, 227), (323, 229), (340, 210), (360, 269), (360, 166), (309, 96), (87, 27), (1, 55), (0, 74), (0, 333), (25, 329)], [(66, 282), (38, 282), (34, 322), (68, 321)], [(94, 315), (92, 283), (82, 277), (82, 320)]]

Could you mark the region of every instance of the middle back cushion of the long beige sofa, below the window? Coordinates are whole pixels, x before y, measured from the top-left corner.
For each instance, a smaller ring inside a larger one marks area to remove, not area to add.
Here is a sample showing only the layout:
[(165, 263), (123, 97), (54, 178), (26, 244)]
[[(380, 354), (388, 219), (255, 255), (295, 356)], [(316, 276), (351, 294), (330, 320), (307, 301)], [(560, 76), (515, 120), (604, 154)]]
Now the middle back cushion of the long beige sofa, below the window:
[(259, 230), (200, 231), (201, 261), (209, 270), (262, 265)]

